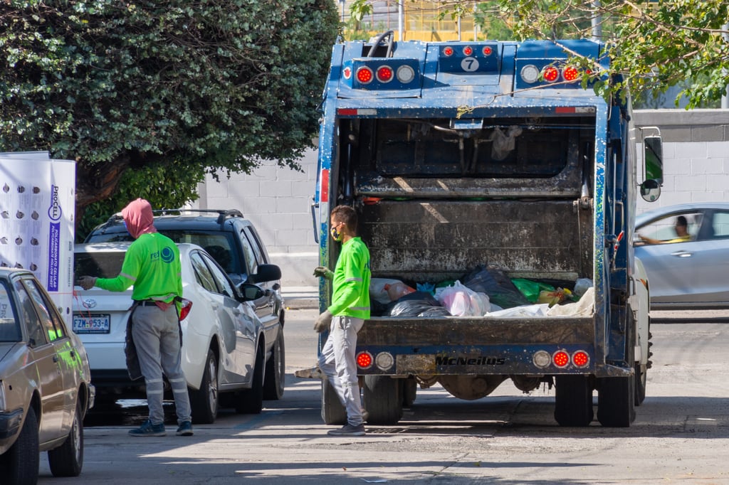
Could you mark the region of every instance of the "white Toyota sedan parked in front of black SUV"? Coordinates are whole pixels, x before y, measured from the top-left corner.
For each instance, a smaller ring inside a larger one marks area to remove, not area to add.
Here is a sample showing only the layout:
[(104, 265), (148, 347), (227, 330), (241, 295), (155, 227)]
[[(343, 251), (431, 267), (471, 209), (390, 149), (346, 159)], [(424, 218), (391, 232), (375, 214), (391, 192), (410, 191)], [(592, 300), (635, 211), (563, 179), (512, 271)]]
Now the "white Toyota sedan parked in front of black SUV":
[[(75, 275), (116, 277), (129, 244), (76, 245)], [(221, 400), (239, 413), (259, 413), (267, 347), (252, 301), (265, 298), (270, 290), (252, 284), (236, 288), (203, 248), (192, 244), (179, 244), (178, 248), (182, 296), (192, 301), (192, 307), (183, 309), (181, 315), (182, 369), (192, 419), (214, 422)], [(262, 265), (257, 281), (280, 277), (278, 267)], [(130, 380), (126, 368), (125, 334), (132, 303), (131, 288), (125, 292), (74, 288), (73, 331), (88, 352), (97, 403), (144, 398), (144, 379)]]

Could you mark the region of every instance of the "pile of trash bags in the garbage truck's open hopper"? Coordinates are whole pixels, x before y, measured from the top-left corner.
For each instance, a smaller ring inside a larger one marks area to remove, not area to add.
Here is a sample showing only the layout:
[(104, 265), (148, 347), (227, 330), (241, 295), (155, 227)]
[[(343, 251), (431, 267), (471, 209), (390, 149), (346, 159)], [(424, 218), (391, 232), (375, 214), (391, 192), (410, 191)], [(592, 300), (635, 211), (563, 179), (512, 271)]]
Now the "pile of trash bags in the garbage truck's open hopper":
[[(570, 288), (567, 288), (567, 287)], [(510, 278), (482, 265), (461, 280), (437, 284), (373, 278), (370, 302), (375, 317), (547, 317), (592, 315), (592, 280), (574, 282)]]

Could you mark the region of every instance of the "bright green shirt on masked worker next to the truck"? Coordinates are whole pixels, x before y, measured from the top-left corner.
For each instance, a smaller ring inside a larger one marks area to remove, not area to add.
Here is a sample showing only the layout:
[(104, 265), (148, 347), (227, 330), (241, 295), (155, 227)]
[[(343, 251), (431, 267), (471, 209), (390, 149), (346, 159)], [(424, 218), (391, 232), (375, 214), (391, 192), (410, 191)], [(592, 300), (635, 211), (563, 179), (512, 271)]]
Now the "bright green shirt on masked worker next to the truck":
[(370, 318), (370, 250), (353, 237), (342, 245), (332, 278), (332, 315)]

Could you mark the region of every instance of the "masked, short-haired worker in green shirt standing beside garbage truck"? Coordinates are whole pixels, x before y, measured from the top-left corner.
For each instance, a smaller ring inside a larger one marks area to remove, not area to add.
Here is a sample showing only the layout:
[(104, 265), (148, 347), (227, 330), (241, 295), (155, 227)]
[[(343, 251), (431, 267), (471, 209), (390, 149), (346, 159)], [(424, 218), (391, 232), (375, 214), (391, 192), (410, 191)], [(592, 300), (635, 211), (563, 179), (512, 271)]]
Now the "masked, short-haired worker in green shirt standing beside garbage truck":
[(362, 436), (364, 419), (354, 352), (357, 332), (370, 318), (370, 251), (356, 235), (357, 213), (338, 205), (330, 218), (332, 239), (342, 243), (335, 270), (314, 269), (314, 276), (332, 280), (332, 304), (319, 315), (314, 330), (330, 331), (319, 355), (319, 368), (327, 375), (347, 410), (347, 424), (330, 430), (334, 436)]

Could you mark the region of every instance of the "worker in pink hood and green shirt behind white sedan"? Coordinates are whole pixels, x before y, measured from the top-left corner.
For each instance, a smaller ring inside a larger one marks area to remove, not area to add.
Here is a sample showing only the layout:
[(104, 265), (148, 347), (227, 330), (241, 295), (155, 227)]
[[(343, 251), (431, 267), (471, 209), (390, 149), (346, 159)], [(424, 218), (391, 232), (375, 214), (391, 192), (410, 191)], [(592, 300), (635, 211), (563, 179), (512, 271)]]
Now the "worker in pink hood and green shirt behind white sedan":
[(147, 387), (149, 419), (130, 430), (132, 436), (164, 436), (163, 373), (175, 399), (178, 428), (176, 435), (192, 435), (190, 398), (181, 364), (181, 333), (176, 299), (182, 298), (182, 266), (175, 243), (157, 232), (152, 206), (144, 199), (122, 210), (124, 224), (134, 242), (124, 256), (122, 270), (115, 278), (82, 276), (78, 284), (108, 291), (126, 291), (131, 285), (132, 337), (139, 367)]

